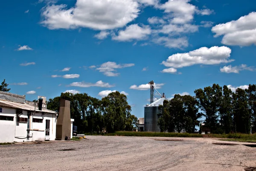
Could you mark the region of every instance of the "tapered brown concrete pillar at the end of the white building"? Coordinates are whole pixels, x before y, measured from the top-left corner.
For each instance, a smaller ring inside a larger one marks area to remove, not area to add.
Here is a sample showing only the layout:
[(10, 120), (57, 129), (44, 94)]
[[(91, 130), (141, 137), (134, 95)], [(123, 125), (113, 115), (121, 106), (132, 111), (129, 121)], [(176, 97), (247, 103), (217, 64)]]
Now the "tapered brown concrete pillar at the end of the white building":
[(70, 136), (70, 101), (61, 99), (60, 112), (56, 124), (56, 140), (65, 140), (65, 136)]

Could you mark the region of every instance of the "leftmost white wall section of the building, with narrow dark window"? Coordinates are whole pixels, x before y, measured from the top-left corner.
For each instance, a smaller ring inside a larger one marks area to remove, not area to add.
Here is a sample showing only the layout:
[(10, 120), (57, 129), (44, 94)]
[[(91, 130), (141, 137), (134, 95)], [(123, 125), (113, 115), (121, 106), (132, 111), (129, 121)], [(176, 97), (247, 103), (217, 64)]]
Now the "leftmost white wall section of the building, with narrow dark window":
[(14, 129), (15, 129), (15, 109), (9, 109), (2, 107), (1, 116), (13, 116), (13, 121), (0, 120), (0, 142), (13, 142), (14, 141)]

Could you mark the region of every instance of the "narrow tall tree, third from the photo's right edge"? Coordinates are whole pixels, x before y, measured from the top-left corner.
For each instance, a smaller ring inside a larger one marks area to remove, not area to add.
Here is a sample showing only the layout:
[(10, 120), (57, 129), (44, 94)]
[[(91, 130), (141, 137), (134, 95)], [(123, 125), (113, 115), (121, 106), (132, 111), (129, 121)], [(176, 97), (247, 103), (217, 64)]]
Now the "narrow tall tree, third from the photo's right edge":
[(219, 108), (220, 127), (225, 133), (230, 133), (233, 130), (233, 105), (232, 91), (226, 86), (223, 86), (223, 96)]

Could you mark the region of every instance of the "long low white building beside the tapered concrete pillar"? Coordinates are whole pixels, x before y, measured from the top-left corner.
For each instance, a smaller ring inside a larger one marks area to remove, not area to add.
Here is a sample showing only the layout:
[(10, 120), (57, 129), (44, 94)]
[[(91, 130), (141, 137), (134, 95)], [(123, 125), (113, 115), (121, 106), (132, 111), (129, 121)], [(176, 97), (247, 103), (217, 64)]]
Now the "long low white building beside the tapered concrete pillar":
[(0, 142), (55, 140), (57, 112), (39, 110), (25, 96), (0, 92), (0, 98)]

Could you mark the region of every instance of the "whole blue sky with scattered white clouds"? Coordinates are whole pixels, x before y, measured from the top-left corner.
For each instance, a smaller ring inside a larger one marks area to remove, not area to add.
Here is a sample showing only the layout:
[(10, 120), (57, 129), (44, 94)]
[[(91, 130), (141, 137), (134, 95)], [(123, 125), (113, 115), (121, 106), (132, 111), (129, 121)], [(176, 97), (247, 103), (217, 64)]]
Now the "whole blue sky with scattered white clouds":
[[(27, 100), (73, 90), (127, 94), (144, 116), (148, 81), (167, 98), (255, 84), (251, 0), (4, 1), (0, 79)], [(63, 70), (63, 71), (62, 71)], [(140, 87), (139, 87), (140, 86)], [(106, 91), (108, 90), (108, 91)]]

